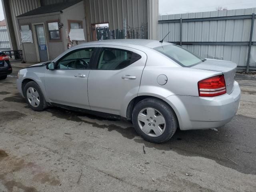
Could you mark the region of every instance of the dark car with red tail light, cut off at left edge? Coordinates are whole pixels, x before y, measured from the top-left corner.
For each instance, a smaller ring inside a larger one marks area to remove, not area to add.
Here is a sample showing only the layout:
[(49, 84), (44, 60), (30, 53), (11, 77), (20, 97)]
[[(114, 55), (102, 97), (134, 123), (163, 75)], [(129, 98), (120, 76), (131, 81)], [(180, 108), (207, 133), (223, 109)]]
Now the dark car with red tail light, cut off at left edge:
[(4, 52), (0, 52), (0, 80), (6, 79), (8, 74), (12, 73), (12, 66), (9, 61), (9, 56)]

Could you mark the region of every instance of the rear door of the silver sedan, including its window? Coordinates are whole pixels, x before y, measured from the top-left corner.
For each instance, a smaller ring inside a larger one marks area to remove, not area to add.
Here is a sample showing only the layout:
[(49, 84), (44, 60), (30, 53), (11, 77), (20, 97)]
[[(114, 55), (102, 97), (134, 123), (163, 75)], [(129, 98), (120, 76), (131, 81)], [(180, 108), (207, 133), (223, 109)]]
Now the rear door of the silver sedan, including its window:
[(98, 49), (98, 59), (88, 79), (90, 107), (124, 116), (120, 111), (138, 94), (147, 56), (140, 50), (122, 46)]

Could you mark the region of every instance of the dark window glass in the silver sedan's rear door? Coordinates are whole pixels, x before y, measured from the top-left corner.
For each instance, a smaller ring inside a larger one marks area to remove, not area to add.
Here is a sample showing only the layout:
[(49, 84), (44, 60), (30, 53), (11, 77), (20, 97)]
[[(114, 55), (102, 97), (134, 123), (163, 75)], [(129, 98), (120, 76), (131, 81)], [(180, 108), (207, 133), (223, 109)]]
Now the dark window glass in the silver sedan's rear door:
[(134, 52), (116, 49), (102, 48), (98, 59), (96, 69), (101, 70), (119, 70), (140, 60), (141, 56)]

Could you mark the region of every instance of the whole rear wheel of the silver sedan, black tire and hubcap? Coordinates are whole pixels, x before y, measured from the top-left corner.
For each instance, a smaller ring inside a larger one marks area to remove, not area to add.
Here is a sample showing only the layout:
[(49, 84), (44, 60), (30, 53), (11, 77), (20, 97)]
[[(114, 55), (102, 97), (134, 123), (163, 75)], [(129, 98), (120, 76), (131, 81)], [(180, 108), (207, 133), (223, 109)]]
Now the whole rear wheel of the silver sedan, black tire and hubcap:
[(136, 104), (132, 123), (142, 138), (154, 143), (170, 140), (178, 127), (174, 110), (164, 101), (154, 98), (146, 98)]

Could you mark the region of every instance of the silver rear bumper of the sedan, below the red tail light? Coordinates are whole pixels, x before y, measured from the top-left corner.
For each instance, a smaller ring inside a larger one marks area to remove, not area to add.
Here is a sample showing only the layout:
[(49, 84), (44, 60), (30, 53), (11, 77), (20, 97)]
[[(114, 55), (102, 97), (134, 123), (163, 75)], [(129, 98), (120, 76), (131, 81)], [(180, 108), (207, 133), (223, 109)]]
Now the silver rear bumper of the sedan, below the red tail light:
[(177, 114), (180, 129), (209, 129), (220, 127), (232, 120), (240, 102), (240, 88), (234, 82), (231, 94), (216, 97), (169, 96), (164, 100)]

